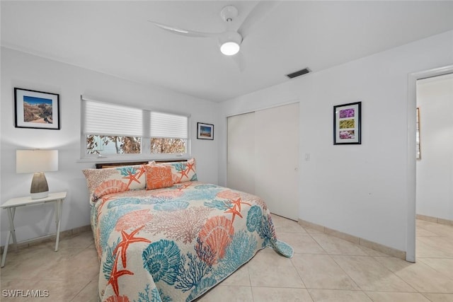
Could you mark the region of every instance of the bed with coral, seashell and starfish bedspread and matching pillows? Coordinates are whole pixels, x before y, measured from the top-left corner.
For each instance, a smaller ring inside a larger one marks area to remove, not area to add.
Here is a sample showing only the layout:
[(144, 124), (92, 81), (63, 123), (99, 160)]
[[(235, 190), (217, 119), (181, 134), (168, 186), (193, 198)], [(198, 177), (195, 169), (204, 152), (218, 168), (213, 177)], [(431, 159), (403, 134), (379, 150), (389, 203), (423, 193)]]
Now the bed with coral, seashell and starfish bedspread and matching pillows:
[(100, 301), (193, 301), (266, 247), (259, 197), (197, 181), (195, 159), (86, 169)]

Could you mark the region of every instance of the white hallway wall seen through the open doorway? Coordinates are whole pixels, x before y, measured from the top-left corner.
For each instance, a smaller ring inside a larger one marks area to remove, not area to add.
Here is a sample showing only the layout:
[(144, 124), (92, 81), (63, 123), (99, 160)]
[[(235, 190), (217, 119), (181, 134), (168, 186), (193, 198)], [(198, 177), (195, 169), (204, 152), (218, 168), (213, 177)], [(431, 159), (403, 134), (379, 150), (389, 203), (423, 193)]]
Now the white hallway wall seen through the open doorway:
[(453, 220), (453, 74), (417, 83), (417, 214)]

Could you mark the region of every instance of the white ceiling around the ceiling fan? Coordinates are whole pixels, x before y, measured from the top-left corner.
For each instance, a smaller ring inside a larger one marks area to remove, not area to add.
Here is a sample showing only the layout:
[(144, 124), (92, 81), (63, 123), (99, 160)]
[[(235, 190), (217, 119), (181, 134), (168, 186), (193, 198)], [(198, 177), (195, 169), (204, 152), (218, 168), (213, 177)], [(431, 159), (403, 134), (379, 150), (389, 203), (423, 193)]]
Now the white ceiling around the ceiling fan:
[(219, 102), (453, 29), (453, 1), (280, 1), (244, 38), (241, 71), (216, 39), (148, 22), (222, 32), (229, 4), (236, 30), (257, 1), (1, 1), (1, 45)]

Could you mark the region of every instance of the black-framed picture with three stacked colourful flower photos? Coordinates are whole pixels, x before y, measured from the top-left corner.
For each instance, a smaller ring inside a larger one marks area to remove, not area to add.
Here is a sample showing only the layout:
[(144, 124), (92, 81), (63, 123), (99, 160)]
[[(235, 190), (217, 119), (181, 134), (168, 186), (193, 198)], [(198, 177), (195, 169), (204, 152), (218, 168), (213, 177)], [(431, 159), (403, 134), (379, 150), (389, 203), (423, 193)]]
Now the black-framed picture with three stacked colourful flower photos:
[(333, 144), (362, 144), (361, 123), (362, 102), (333, 106)]

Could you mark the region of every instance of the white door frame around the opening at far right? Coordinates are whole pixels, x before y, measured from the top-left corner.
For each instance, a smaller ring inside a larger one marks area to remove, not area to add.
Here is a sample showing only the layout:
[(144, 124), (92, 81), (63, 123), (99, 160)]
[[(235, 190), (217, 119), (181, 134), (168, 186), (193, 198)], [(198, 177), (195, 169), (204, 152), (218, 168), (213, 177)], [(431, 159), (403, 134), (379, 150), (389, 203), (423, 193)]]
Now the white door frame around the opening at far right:
[(415, 204), (417, 188), (415, 159), (415, 110), (417, 108), (417, 81), (432, 76), (453, 73), (453, 65), (419, 71), (408, 75), (408, 209), (406, 225), (406, 261), (415, 262)]

